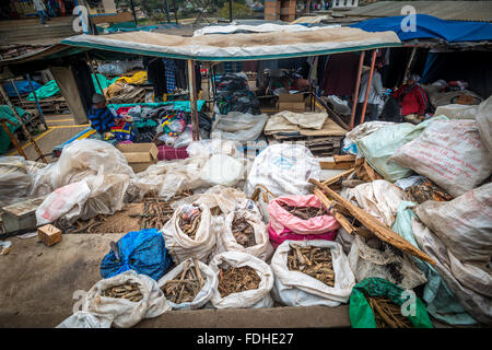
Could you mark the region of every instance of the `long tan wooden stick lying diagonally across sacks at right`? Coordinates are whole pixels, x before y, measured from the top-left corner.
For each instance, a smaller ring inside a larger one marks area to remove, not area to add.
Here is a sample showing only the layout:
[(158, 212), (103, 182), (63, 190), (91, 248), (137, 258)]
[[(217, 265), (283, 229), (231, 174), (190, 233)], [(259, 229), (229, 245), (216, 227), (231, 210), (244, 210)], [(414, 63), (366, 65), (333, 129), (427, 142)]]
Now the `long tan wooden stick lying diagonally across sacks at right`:
[(421, 260), (424, 260), (429, 264), (435, 265), (435, 261), (422, 250), (415, 248), (410, 242), (401, 237), (398, 233), (393, 231), (389, 228), (383, 225), (379, 221), (377, 221), (374, 217), (366, 213), (361, 208), (353, 205), (350, 200), (343, 198), (335, 190), (329, 188), (328, 186), (321, 184), (317, 179), (309, 178), (309, 183), (316, 185), (320, 189), (323, 189), (328, 196), (335, 199), (338, 203), (343, 206), (345, 209), (350, 211), (350, 213), (358, 219), (365, 228), (367, 228), (372, 233), (374, 233), (382, 241), (412, 255), (418, 257)]

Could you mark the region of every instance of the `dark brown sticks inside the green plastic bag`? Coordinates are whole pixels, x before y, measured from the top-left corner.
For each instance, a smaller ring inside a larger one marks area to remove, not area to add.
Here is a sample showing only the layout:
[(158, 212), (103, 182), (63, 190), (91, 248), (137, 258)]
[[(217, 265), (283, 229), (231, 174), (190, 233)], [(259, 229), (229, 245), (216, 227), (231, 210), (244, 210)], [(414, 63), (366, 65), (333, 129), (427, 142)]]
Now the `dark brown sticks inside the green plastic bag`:
[(367, 296), (377, 328), (413, 328), (401, 307), (387, 298)]

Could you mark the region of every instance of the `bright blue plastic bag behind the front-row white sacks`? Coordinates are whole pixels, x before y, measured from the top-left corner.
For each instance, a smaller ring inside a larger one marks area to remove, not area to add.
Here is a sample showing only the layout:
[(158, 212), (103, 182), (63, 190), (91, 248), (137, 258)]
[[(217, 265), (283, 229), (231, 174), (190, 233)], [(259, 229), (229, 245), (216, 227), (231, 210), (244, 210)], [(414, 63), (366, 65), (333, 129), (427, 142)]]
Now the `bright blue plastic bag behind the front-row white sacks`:
[(156, 229), (129, 232), (116, 243), (116, 247), (118, 256), (112, 249), (101, 262), (103, 278), (134, 270), (159, 280), (173, 262)]

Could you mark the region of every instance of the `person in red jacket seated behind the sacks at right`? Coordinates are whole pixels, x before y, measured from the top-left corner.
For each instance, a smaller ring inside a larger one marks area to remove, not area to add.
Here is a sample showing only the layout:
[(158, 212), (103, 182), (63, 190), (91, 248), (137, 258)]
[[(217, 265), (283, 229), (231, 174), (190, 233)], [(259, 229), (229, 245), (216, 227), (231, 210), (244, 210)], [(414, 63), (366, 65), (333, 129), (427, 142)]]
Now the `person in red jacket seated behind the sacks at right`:
[(411, 74), (407, 82), (391, 94), (391, 97), (400, 101), (400, 115), (402, 117), (418, 115), (422, 118), (425, 115), (429, 98), (425, 91), (419, 85), (419, 75)]

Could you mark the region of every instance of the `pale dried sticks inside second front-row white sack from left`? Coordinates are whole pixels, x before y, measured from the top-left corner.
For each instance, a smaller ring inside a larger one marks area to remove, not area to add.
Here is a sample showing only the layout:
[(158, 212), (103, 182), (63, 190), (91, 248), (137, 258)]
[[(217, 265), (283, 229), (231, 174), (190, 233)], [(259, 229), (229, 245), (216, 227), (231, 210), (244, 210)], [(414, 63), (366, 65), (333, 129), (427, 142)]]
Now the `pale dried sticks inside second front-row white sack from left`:
[(186, 261), (179, 279), (167, 280), (162, 287), (162, 291), (167, 300), (175, 304), (192, 302), (203, 288), (203, 277), (201, 275), (198, 260), (194, 258), (194, 264)]

